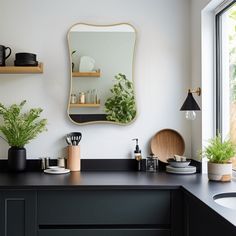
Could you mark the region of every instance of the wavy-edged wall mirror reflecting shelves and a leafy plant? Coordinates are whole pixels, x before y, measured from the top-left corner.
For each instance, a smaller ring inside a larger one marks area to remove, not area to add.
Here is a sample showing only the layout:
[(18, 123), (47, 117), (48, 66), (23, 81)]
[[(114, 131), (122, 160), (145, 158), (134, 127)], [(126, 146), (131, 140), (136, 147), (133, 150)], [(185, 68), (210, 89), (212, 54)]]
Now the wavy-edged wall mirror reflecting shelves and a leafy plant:
[(129, 24), (80, 23), (70, 28), (68, 115), (73, 122), (128, 124), (135, 119), (135, 37), (136, 31)]

